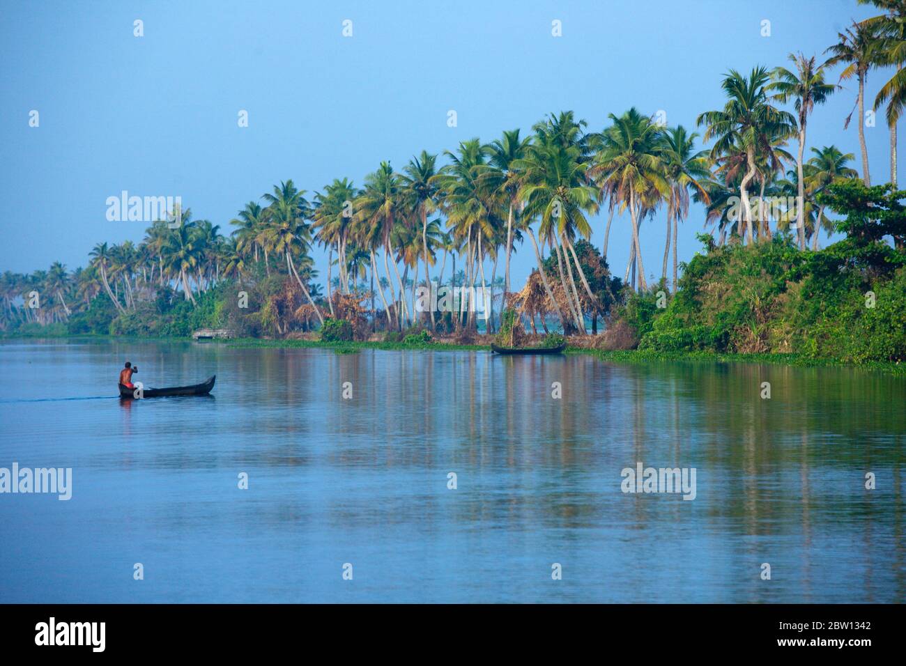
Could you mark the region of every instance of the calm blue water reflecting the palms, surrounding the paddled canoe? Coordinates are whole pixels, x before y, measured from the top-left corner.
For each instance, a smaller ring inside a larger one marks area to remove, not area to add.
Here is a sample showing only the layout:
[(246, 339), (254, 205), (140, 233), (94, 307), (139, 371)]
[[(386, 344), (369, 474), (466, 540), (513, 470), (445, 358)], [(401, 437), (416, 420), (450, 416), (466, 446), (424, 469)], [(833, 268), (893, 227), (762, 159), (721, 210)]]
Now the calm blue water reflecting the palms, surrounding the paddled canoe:
[[(125, 360), (214, 396), (120, 402)], [(0, 602), (901, 602), (904, 405), (838, 369), (0, 343), (0, 467), (73, 470), (0, 495)], [(622, 493), (638, 461), (697, 497)]]

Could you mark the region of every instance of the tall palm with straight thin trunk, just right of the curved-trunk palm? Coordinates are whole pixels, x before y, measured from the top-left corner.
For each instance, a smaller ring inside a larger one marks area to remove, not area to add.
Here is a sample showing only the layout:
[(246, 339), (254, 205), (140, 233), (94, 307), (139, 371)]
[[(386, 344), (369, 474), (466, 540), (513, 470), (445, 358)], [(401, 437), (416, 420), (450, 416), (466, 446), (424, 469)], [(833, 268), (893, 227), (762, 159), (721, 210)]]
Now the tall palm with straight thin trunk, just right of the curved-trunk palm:
[(824, 82), (824, 66), (815, 65), (814, 55), (806, 58), (804, 54), (789, 54), (789, 60), (795, 63), (795, 73), (784, 67), (774, 70), (774, 81), (768, 89), (775, 91), (774, 99), (787, 103), (794, 100), (794, 107), (799, 121), (798, 138), (799, 151), (796, 154), (796, 172), (798, 192), (796, 194), (799, 208), (796, 218), (797, 235), (799, 236), (799, 249), (805, 250), (805, 177), (802, 173), (803, 152), (805, 151), (805, 126), (808, 115), (814, 110), (815, 104), (823, 104), (836, 90), (837, 86)]

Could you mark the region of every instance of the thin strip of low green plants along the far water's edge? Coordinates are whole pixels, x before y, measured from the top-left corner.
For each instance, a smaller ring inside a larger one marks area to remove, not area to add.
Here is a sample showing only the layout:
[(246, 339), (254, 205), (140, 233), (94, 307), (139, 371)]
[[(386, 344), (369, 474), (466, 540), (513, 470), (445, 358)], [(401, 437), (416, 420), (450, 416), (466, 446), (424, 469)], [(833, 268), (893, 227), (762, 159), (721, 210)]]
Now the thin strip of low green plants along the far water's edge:
[[(65, 340), (98, 340), (142, 343), (196, 343), (223, 344), (237, 349), (242, 348), (275, 348), (275, 349), (333, 349), (337, 353), (354, 353), (363, 349), (376, 349), (384, 352), (419, 351), (419, 352), (491, 352), (489, 344), (457, 343), (385, 343), (372, 341), (328, 343), (320, 340), (275, 340), (266, 338), (234, 338), (219, 341), (198, 342), (192, 338), (145, 338), (120, 335), (2, 335), (0, 343), (7, 341), (65, 341)], [(906, 363), (878, 362), (863, 363), (843, 362), (837, 359), (810, 358), (801, 354), (789, 353), (719, 353), (719, 352), (654, 352), (650, 350), (602, 350), (592, 347), (567, 346), (564, 352), (568, 355), (588, 355), (599, 361), (616, 363), (653, 363), (653, 362), (711, 362), (711, 363), (749, 363), (755, 365), (779, 365), (799, 368), (840, 368), (868, 372), (882, 372), (895, 376), (906, 376)]]

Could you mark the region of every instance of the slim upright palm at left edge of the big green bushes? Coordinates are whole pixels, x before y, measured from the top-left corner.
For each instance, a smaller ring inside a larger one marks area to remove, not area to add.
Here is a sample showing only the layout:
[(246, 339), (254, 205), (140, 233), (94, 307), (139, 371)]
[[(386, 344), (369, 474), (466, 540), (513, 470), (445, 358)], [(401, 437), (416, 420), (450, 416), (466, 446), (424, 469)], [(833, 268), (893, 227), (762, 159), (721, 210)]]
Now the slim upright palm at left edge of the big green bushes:
[(663, 133), (664, 150), (662, 159), (667, 177), (670, 182), (670, 196), (668, 198), (667, 213), (667, 242), (664, 246), (664, 265), (661, 270), (661, 279), (667, 278), (667, 254), (670, 250), (670, 222), (672, 219), (673, 236), (673, 290), (677, 285), (677, 224), (680, 219), (689, 215), (689, 190), (696, 192), (699, 200), (706, 206), (710, 204), (708, 192), (702, 183), (710, 176), (708, 169), (707, 151), (695, 152), (695, 140), (698, 132), (687, 133), (679, 125)]

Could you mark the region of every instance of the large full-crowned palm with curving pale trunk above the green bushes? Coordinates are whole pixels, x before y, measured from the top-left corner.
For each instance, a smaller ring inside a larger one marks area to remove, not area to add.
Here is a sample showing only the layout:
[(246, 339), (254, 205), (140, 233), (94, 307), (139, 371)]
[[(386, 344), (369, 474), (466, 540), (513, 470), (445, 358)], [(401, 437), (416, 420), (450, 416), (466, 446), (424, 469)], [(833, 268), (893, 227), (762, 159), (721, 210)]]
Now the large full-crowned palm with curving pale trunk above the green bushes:
[(704, 140), (715, 140), (711, 159), (730, 150), (735, 144), (745, 150), (747, 171), (739, 183), (739, 198), (746, 216), (746, 236), (753, 239), (752, 209), (749, 206), (748, 185), (757, 173), (756, 153), (767, 154), (772, 137), (792, 136), (795, 118), (779, 111), (767, 100), (766, 85), (770, 76), (764, 67), (756, 67), (748, 77), (730, 70), (721, 86), (728, 101), (723, 111), (699, 114), (698, 124), (707, 126)]

